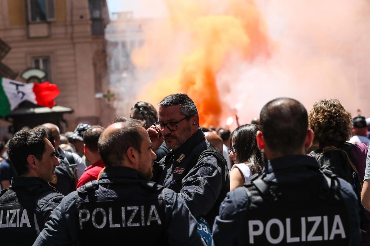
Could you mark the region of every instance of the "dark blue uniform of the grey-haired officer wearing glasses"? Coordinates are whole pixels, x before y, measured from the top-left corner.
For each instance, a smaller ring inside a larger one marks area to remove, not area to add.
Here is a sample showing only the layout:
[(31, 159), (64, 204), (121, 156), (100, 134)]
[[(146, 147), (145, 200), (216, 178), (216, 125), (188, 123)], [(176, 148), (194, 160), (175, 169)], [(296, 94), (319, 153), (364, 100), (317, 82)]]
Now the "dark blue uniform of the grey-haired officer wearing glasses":
[(225, 158), (205, 140), (203, 131), (170, 150), (159, 164), (160, 177), (153, 180), (179, 193), (195, 218), (202, 216), (212, 225), (230, 191), (230, 178)]

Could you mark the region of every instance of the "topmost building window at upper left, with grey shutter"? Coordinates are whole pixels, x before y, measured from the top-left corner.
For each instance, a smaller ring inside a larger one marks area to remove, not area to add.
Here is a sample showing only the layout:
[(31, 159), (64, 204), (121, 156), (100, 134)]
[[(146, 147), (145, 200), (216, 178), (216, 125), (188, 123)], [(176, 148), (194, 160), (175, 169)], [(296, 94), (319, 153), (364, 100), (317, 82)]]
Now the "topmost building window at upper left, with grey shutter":
[(55, 0), (27, 0), (30, 23), (55, 21)]

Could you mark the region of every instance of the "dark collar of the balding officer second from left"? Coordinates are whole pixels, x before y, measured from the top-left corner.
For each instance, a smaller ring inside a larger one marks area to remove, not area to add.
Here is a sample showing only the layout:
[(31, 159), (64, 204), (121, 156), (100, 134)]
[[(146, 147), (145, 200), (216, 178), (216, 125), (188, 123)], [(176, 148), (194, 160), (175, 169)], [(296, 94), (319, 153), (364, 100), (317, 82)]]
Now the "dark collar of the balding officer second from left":
[(100, 174), (99, 180), (112, 178), (130, 178), (149, 180), (144, 174), (130, 167), (106, 167)]

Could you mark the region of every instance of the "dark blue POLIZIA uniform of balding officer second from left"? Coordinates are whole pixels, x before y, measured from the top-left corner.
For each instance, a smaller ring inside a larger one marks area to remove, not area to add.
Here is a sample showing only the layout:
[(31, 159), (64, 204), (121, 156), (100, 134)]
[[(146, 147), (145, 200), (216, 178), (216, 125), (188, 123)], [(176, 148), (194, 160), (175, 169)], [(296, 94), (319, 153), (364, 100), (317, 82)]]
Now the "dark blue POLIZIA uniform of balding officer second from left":
[(34, 245), (203, 245), (197, 222), (174, 192), (128, 167), (67, 195)]

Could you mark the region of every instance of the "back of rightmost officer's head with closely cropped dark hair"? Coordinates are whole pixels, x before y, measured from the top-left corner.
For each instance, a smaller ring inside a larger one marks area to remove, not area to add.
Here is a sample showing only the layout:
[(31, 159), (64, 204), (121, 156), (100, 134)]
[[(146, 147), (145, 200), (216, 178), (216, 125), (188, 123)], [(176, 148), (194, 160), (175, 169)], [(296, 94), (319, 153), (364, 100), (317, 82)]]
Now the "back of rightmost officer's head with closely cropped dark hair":
[(277, 98), (261, 110), (260, 130), (266, 146), (283, 156), (302, 148), (307, 129), (307, 110), (295, 99)]

